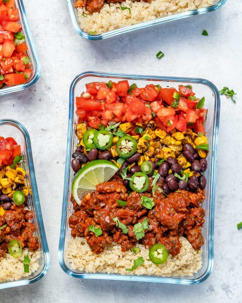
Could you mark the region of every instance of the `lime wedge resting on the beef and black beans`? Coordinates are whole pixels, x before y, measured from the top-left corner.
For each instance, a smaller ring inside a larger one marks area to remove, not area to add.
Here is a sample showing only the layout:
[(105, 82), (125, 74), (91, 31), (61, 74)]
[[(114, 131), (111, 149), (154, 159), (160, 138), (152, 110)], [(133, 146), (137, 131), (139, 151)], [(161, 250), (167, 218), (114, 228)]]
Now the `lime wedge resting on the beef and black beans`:
[(107, 160), (95, 160), (83, 166), (77, 171), (71, 186), (77, 204), (80, 205), (85, 195), (95, 191), (97, 184), (107, 182), (118, 170), (113, 162)]

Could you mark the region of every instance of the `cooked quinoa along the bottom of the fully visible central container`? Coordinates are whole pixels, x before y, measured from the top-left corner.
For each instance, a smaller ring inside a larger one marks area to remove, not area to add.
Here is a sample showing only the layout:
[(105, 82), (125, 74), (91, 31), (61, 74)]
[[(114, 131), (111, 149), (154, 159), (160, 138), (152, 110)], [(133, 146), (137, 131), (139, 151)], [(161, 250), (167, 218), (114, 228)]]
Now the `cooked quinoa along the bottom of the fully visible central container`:
[[(139, 251), (135, 254), (132, 250), (121, 251), (121, 245), (108, 246), (104, 252), (94, 255), (85, 238), (71, 238), (65, 260), (70, 263), (72, 269), (78, 269), (87, 273), (105, 272), (107, 274), (121, 275), (156, 275), (170, 276), (192, 276), (202, 267), (202, 249), (196, 251), (191, 243), (184, 237), (180, 237), (180, 253), (175, 257), (168, 256), (163, 264), (154, 264), (149, 259), (149, 249), (144, 245), (136, 244)], [(126, 271), (132, 268), (134, 260), (143, 257), (144, 264), (134, 271)]]

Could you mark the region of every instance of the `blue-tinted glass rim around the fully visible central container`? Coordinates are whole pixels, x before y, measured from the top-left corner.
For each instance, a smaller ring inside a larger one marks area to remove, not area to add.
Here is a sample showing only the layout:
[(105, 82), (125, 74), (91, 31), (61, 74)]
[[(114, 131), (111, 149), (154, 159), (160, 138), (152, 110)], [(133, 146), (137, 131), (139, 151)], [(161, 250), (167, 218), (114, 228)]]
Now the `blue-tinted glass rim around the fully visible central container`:
[[(108, 275), (108, 274), (87, 274), (87, 273), (76, 273), (67, 268), (64, 261), (64, 244), (65, 244), (65, 231), (66, 231), (66, 213), (67, 213), (67, 197), (68, 197), (68, 183), (70, 178), (70, 157), (71, 157), (71, 139), (73, 130), (73, 98), (74, 98), (74, 88), (77, 82), (81, 78), (86, 78), (89, 76), (96, 77), (107, 77), (107, 78), (123, 78), (123, 79), (137, 79), (137, 80), (160, 80), (160, 81), (170, 81), (170, 82), (193, 82), (200, 83), (208, 86), (215, 98), (215, 108), (214, 108), (214, 129), (213, 129), (213, 145), (212, 145), (212, 160), (211, 160), (211, 189), (210, 189), (210, 207), (209, 207), (209, 225), (208, 225), (208, 249), (211, 254), (208, 258), (208, 266), (204, 274), (197, 279), (180, 279), (180, 278), (170, 278), (170, 277), (152, 277), (152, 276), (125, 276), (125, 275)], [(108, 279), (108, 280), (126, 280), (126, 281), (146, 281), (146, 282), (160, 282), (160, 283), (173, 283), (173, 284), (183, 284), (183, 285), (193, 285), (205, 281), (212, 272), (213, 268), (213, 255), (214, 255), (214, 207), (215, 207), (215, 191), (216, 191), (216, 173), (217, 173), (217, 141), (218, 141), (218, 128), (219, 128), (219, 115), (220, 115), (220, 96), (216, 86), (202, 78), (179, 78), (179, 77), (162, 77), (162, 76), (147, 76), (147, 75), (125, 75), (125, 74), (114, 74), (114, 73), (104, 73), (104, 72), (83, 72), (77, 75), (70, 85), (69, 93), (69, 121), (68, 121), (68, 139), (67, 139), (67, 154), (66, 154), (66, 165), (65, 165), (65, 176), (64, 176), (64, 193), (63, 193), (63, 205), (62, 205), (62, 216), (61, 216), (61, 228), (60, 228), (60, 242), (58, 259), (60, 267), (65, 273), (74, 277), (82, 279)], [(159, 281), (157, 281), (159, 278)]]

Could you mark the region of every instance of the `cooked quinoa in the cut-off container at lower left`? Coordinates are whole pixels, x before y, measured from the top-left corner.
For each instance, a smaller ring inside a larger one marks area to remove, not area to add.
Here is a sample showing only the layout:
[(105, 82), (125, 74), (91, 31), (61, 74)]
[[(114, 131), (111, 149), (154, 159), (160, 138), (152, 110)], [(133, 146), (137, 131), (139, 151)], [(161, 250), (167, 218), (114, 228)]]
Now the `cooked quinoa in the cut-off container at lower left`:
[[(26, 255), (29, 255), (31, 259), (29, 265), (29, 273), (24, 272), (23, 259)], [(0, 259), (0, 283), (17, 281), (21, 278), (30, 276), (32, 273), (38, 270), (40, 258), (39, 251), (29, 251), (28, 248), (23, 249), (23, 254), (19, 258), (14, 258), (10, 254), (7, 254), (5, 258)]]

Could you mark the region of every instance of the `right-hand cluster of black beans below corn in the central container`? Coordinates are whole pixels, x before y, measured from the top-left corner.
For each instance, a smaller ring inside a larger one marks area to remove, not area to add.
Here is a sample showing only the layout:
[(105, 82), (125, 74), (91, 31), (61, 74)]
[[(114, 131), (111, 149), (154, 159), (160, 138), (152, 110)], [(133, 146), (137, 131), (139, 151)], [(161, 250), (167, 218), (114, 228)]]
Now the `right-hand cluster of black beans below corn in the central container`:
[[(191, 163), (191, 171), (199, 173), (199, 177), (197, 178), (195, 175), (191, 176), (187, 182), (185, 179), (180, 180), (175, 177), (175, 173), (181, 175), (181, 170), (183, 170), (183, 168), (177, 163), (175, 158), (168, 157), (166, 161), (161, 163), (158, 169), (158, 172), (161, 175), (158, 181), (163, 182), (162, 188), (166, 195), (168, 195), (170, 191), (177, 191), (178, 189), (195, 191), (198, 186), (201, 189), (204, 189), (207, 185), (207, 180), (203, 175), (203, 172), (206, 171), (208, 167), (208, 161), (205, 158), (199, 160), (198, 153), (190, 143), (185, 143), (183, 145), (183, 156)], [(172, 173), (168, 175), (169, 169), (172, 170)]]

